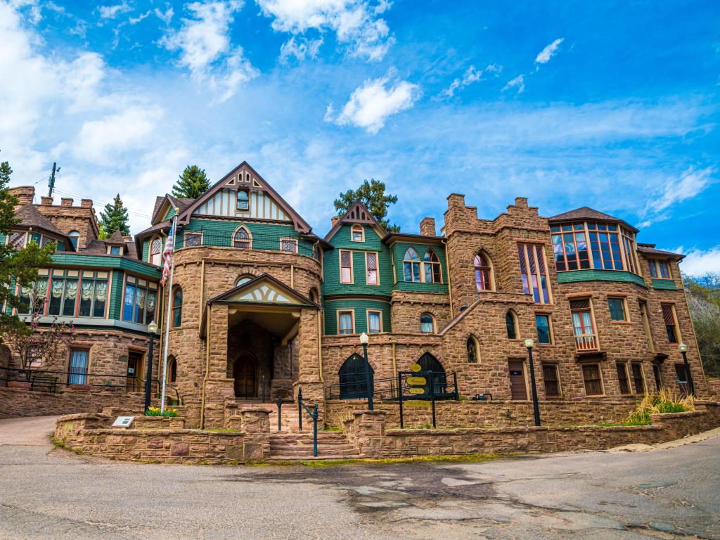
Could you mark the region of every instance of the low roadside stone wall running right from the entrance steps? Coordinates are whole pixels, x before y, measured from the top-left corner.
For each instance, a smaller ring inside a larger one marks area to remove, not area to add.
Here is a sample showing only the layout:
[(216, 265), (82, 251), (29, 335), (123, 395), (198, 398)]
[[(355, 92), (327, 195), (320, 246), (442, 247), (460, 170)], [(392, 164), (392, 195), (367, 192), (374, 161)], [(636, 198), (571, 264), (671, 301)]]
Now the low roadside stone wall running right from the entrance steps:
[(361, 411), (344, 423), (348, 439), (363, 457), (509, 454), (604, 450), (626, 444), (672, 441), (720, 426), (720, 404), (703, 410), (652, 415), (650, 426), (572, 426), (462, 429), (386, 427), (383, 411)]

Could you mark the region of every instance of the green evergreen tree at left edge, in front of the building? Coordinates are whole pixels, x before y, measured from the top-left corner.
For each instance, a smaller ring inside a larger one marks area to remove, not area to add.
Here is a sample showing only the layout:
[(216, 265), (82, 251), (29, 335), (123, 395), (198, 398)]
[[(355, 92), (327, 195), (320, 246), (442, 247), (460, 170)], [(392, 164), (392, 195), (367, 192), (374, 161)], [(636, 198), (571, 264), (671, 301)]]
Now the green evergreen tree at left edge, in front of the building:
[[(0, 163), (0, 233), (9, 235), (19, 220), (15, 217), (17, 197), (10, 194), (8, 184), (12, 168), (7, 161)], [(31, 242), (27, 247), (15, 249), (11, 245), (0, 244), (0, 305), (6, 302), (9, 307), (20, 307), (22, 304), (15, 296), (15, 286), (33, 287), (37, 282), (37, 269), (52, 264), (52, 253), (55, 243), (48, 243), (40, 248)], [(32, 330), (22, 323), (17, 315), (0, 312), (0, 338), (11, 332), (30, 333)]]

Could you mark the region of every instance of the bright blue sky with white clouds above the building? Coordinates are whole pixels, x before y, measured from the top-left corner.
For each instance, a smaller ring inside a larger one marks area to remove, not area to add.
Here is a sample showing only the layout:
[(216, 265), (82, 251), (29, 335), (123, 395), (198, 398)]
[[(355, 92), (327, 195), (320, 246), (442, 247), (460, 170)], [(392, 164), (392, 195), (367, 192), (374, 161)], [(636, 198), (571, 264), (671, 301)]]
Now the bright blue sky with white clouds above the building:
[(13, 184), (57, 161), (135, 232), (186, 164), (246, 160), (320, 235), (375, 178), (406, 232), (524, 196), (720, 271), (716, 1), (0, 0), (0, 43)]

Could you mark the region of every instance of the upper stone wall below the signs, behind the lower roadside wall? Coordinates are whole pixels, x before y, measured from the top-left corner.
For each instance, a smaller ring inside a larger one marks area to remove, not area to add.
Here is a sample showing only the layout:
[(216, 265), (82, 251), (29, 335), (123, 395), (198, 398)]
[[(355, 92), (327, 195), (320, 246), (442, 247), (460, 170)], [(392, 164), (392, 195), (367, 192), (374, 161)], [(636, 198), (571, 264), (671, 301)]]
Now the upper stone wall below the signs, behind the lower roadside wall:
[[(592, 401), (541, 401), (540, 418), (544, 426), (577, 426), (579, 424), (620, 423), (634, 408), (636, 397), (621, 400)], [(438, 401), (436, 425), (438, 428), (504, 428), (530, 426), (534, 423), (532, 402), (526, 401)], [(364, 410), (366, 402), (360, 400), (328, 401), (326, 423), (342, 426), (357, 410)], [(375, 410), (385, 413), (388, 428), (400, 427), (400, 410), (397, 402), (375, 402)], [(432, 425), (428, 408), (405, 407), (405, 427)]]

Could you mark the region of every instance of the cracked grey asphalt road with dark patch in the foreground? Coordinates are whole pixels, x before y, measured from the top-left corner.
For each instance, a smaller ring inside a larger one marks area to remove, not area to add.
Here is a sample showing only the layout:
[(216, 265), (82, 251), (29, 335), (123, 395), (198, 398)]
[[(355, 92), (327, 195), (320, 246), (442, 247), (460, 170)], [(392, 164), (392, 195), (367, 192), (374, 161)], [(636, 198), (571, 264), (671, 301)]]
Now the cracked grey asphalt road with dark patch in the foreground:
[(720, 436), (316, 469), (106, 462), (52, 449), (52, 426), (0, 420), (0, 539), (720, 539)]

